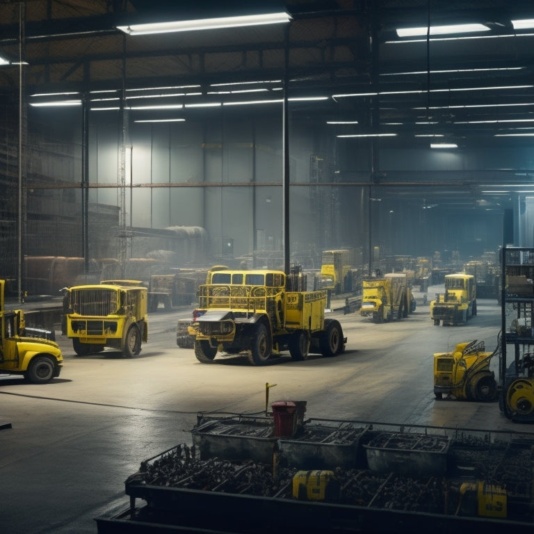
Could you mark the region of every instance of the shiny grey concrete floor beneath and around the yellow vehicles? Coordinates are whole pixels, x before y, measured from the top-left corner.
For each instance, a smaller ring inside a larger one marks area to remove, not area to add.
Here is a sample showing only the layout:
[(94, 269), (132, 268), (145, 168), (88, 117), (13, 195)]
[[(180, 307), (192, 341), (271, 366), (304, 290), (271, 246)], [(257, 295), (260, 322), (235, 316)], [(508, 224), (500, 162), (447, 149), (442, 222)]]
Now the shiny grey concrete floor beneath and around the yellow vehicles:
[(460, 327), (432, 325), (428, 305), (382, 325), (340, 314), (342, 355), (293, 362), (288, 354), (264, 367), (245, 357), (197, 362), (176, 346), (177, 318), (188, 316), (152, 314), (149, 343), (132, 359), (77, 357), (58, 333), (60, 378), (37, 386), (0, 376), (0, 423), (12, 425), (0, 430), (3, 532), (95, 534), (95, 517), (127, 508), (124, 480), (142, 460), (191, 444), (197, 412), (264, 411), (266, 382), (275, 384), (269, 402), (307, 401), (307, 417), (534, 432), (508, 421), (497, 403), (435, 401), (432, 392), (433, 353), (471, 339), (496, 346), (494, 300), (478, 300), (478, 315)]

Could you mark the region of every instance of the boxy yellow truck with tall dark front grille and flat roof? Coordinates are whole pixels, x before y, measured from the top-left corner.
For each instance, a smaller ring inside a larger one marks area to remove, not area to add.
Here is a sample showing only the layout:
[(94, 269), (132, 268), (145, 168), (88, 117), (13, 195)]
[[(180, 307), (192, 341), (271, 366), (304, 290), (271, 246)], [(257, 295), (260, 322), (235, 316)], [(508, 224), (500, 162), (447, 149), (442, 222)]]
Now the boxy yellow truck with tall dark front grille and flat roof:
[(63, 335), (79, 356), (106, 347), (136, 356), (148, 341), (147, 288), (138, 280), (72, 286), (63, 298)]

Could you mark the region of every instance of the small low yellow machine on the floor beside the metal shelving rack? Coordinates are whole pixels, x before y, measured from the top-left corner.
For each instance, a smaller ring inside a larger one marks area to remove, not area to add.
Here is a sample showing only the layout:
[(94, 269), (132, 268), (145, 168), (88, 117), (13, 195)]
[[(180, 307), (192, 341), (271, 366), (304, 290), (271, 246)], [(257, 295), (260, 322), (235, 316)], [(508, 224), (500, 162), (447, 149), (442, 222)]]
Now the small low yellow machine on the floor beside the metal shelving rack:
[(492, 353), (485, 352), (484, 342), (458, 343), (452, 353), (434, 355), (434, 394), (436, 398), (453, 396), (459, 401), (489, 402), (496, 399), (497, 385), (489, 371)]

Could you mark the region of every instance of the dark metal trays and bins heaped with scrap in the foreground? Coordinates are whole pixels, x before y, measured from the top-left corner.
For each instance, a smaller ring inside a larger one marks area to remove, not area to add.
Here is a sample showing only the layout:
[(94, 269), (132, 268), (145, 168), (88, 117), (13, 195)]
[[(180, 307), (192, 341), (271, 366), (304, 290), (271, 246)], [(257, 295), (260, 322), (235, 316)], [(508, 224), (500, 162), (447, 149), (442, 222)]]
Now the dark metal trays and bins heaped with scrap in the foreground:
[(268, 417), (202, 416), (191, 433), (193, 445), (141, 462), (125, 482), (129, 509), (96, 518), (99, 534), (147, 524), (240, 534), (534, 526), (527, 432), (309, 419), (275, 435)]

